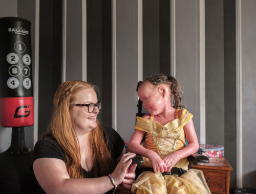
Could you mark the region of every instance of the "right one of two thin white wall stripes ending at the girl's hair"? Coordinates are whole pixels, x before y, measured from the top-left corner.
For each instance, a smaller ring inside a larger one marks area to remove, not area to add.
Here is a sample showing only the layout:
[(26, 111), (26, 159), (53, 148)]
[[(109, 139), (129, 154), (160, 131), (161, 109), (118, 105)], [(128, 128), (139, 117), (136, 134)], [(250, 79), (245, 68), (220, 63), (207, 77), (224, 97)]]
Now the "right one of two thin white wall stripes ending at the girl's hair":
[(172, 42), (170, 42), (170, 44), (172, 45), (172, 53), (170, 54), (171, 57), (173, 57), (172, 59), (170, 59), (171, 61), (171, 67), (172, 67), (172, 71), (173, 71), (173, 76), (175, 77), (176, 76), (176, 22), (175, 22), (175, 0), (172, 0), (171, 1), (171, 4), (170, 4), (171, 7), (171, 11), (172, 11), (172, 20), (171, 20), (171, 25), (170, 25), (170, 30), (172, 31), (172, 37), (170, 38), (170, 40)]

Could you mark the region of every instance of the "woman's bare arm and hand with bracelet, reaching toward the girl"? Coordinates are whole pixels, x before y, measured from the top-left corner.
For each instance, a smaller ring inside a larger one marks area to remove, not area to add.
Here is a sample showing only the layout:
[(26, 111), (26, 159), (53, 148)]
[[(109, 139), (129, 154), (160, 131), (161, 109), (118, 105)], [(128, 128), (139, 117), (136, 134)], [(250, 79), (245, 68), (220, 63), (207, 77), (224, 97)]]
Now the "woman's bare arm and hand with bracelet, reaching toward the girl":
[[(135, 154), (121, 157), (111, 177), (116, 184), (122, 183)], [(99, 178), (71, 179), (64, 161), (56, 158), (39, 158), (33, 163), (35, 177), (46, 193), (104, 193), (114, 188), (108, 176)]]

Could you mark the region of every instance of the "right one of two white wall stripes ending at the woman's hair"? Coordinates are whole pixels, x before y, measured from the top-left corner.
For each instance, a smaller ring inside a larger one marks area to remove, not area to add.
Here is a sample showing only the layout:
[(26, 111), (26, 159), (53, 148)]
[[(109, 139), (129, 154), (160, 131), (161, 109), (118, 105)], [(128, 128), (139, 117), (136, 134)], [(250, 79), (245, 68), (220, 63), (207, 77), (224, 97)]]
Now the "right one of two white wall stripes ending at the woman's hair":
[(86, 0), (82, 0), (82, 81), (87, 81), (87, 17)]

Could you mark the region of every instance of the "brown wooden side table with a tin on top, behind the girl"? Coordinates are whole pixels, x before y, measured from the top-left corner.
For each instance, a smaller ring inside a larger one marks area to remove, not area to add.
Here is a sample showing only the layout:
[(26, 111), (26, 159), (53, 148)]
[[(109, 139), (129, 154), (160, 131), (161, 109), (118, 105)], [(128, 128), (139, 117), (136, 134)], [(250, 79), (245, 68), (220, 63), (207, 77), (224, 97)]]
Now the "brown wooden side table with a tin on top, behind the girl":
[(209, 163), (198, 163), (191, 168), (200, 169), (204, 173), (204, 178), (212, 194), (229, 193), (229, 178), (231, 166), (225, 157), (209, 158)]

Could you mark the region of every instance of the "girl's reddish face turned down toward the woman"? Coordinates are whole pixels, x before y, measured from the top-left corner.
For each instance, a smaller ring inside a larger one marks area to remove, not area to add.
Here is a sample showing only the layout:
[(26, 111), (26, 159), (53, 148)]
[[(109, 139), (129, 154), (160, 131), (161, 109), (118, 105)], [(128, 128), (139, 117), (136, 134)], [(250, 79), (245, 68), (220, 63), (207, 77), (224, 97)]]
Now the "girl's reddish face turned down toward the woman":
[(163, 111), (165, 104), (158, 86), (154, 86), (150, 82), (144, 82), (138, 88), (138, 96), (144, 108), (150, 112), (151, 115), (158, 115)]

